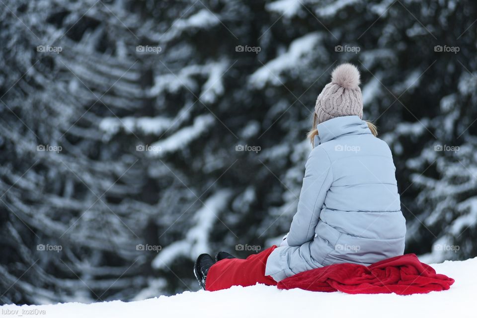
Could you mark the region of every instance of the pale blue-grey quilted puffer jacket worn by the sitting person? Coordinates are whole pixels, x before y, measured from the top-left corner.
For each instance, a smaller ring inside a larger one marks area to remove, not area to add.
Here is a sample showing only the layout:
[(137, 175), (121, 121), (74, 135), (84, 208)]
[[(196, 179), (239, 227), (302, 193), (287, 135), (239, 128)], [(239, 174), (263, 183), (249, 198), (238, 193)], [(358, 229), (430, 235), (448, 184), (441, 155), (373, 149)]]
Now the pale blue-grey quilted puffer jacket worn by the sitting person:
[(402, 255), (406, 233), (388, 145), (358, 116), (318, 124), (287, 241), (268, 257), (280, 281), (335, 263), (369, 265)]

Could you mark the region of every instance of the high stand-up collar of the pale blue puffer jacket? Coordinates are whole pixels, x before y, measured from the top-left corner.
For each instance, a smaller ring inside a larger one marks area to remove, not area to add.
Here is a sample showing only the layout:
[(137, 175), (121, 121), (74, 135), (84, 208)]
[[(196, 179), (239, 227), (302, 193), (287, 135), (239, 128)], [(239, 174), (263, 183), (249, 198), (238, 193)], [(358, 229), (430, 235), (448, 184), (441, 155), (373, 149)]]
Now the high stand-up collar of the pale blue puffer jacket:
[(317, 125), (315, 147), (344, 135), (371, 134), (368, 124), (356, 115), (328, 119)]

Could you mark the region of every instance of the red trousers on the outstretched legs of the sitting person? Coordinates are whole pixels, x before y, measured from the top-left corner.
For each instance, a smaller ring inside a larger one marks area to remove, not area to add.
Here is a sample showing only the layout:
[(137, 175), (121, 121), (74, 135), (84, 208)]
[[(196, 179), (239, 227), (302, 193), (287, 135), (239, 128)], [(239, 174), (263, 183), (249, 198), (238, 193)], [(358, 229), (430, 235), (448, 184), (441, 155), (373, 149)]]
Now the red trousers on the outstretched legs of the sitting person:
[(232, 286), (252, 286), (256, 283), (273, 285), (277, 284), (271, 276), (265, 276), (265, 265), (270, 253), (277, 246), (252, 254), (246, 259), (223, 259), (212, 265), (207, 273), (205, 289), (216, 291)]

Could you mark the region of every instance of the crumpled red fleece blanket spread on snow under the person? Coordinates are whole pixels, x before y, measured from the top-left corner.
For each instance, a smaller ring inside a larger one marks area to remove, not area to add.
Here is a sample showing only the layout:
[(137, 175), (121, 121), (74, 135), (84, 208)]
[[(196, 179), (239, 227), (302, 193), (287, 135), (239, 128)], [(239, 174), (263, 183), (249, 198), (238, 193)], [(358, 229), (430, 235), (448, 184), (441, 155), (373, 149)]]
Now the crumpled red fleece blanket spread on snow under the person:
[(285, 278), (279, 289), (301, 288), (317, 292), (341, 291), (348, 294), (425, 294), (448, 290), (454, 279), (436, 274), (415, 254), (405, 254), (374, 263), (333, 264)]

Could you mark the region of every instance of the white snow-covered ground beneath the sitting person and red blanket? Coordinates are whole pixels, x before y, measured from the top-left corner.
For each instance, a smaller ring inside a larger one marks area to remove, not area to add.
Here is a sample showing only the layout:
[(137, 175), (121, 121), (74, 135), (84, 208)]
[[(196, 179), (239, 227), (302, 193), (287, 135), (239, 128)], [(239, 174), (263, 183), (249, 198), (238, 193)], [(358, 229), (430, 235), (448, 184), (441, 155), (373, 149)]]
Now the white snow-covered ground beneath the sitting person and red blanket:
[(218, 292), (184, 292), (129, 303), (4, 305), (0, 317), (477, 317), (477, 257), (432, 266), (456, 280), (450, 290), (410, 296), (348, 295), (299, 289), (281, 291), (256, 285)]

